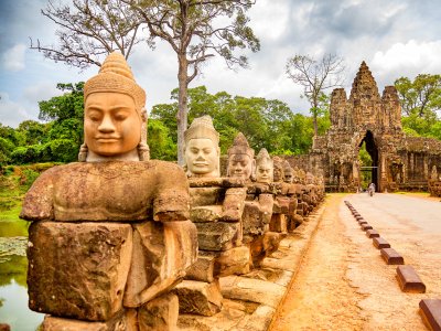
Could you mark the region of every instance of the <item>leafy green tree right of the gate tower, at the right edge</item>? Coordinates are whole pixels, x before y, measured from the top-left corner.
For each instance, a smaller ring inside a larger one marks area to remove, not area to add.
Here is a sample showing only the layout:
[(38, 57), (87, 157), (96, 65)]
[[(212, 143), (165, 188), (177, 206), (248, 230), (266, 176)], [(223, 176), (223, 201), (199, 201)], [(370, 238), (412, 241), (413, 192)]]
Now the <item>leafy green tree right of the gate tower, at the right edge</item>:
[(413, 82), (400, 77), (395, 87), (405, 116), (430, 117), (441, 109), (441, 75), (420, 74)]

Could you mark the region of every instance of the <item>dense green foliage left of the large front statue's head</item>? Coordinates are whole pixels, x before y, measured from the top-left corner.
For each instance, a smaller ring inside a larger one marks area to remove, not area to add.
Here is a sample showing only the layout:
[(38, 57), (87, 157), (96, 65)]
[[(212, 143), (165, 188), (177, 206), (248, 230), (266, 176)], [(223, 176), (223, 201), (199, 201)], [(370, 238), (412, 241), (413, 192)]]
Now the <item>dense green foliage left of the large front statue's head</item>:
[(39, 118), (17, 129), (0, 124), (0, 167), (36, 162), (72, 162), (83, 142), (84, 83), (57, 84), (62, 96), (40, 102)]

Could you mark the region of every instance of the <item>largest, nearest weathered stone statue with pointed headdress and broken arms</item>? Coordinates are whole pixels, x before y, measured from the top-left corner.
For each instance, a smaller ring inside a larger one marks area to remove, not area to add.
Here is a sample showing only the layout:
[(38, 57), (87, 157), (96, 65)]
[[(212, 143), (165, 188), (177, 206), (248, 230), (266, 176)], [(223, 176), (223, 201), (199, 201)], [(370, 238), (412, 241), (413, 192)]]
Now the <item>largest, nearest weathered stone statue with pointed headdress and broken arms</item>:
[(121, 54), (84, 96), (86, 162), (51, 168), (24, 197), (29, 306), (51, 314), (44, 330), (174, 328), (169, 290), (197, 255), (185, 173), (141, 161), (146, 95)]

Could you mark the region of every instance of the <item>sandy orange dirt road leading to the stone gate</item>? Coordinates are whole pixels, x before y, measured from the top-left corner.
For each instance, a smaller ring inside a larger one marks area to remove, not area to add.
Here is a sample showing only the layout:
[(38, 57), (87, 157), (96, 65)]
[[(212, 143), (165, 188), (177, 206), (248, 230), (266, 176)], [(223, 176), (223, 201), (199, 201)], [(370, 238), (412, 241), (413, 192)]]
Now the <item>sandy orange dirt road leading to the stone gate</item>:
[[(427, 292), (405, 293), (344, 205), (349, 201), (417, 270)], [(271, 330), (427, 330), (423, 298), (441, 298), (441, 203), (397, 194), (330, 195)]]

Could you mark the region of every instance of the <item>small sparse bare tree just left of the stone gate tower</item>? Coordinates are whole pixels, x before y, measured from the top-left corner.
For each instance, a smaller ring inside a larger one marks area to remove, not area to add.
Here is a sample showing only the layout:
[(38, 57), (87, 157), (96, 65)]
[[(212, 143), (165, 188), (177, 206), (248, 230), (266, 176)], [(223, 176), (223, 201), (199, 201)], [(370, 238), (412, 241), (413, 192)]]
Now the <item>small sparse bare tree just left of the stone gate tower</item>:
[(303, 86), (303, 95), (311, 105), (314, 122), (314, 135), (318, 135), (318, 117), (323, 114), (321, 99), (329, 88), (342, 86), (345, 67), (343, 58), (325, 54), (318, 61), (309, 55), (297, 54), (288, 58), (286, 73), (295, 84)]

